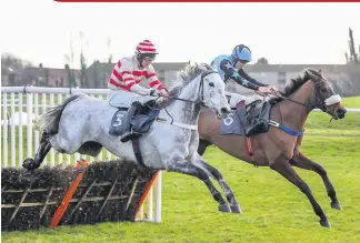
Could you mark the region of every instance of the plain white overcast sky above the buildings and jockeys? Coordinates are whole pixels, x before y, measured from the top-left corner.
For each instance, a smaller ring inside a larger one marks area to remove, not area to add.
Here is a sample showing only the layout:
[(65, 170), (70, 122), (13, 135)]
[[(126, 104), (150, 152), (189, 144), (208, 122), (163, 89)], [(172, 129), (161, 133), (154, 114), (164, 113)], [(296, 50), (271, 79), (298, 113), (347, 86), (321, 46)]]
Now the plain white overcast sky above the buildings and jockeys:
[[(341, 64), (348, 30), (360, 44), (360, 3), (60, 3), (1, 1), (1, 53), (63, 68), (70, 42), (88, 63), (131, 55), (151, 40), (157, 62), (211, 62), (247, 44), (272, 64)], [(82, 32), (82, 38), (80, 38)], [(110, 47), (107, 44), (111, 40)], [(82, 44), (81, 44), (82, 43)]]

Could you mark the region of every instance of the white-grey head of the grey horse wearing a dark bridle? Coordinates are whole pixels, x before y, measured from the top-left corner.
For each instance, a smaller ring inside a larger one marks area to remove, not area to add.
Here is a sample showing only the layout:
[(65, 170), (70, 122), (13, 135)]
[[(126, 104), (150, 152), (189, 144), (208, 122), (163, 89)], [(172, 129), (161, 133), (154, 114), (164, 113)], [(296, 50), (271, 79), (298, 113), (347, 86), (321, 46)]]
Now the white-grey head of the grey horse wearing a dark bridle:
[(200, 102), (210, 108), (217, 114), (217, 118), (224, 119), (231, 111), (226, 98), (224, 82), (210, 65), (203, 65), (207, 70), (201, 73)]

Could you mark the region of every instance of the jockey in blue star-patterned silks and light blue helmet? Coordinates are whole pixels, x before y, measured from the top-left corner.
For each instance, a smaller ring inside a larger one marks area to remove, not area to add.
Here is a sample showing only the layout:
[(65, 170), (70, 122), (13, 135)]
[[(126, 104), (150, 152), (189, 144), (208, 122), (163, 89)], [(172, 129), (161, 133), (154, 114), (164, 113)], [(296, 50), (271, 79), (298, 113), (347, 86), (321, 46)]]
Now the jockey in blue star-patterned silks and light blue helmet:
[[(221, 54), (213, 59), (211, 65), (219, 72), (222, 80), (227, 83), (229, 80), (236, 81), (238, 84), (254, 90), (258, 94), (264, 95), (278, 91), (274, 87), (269, 87), (262, 82), (251, 78), (243, 67), (251, 61), (251, 51), (244, 44), (237, 45), (230, 55)], [(251, 99), (252, 100), (252, 99)], [(240, 101), (249, 103), (250, 99), (241, 94), (231, 94), (230, 107), (237, 107)]]

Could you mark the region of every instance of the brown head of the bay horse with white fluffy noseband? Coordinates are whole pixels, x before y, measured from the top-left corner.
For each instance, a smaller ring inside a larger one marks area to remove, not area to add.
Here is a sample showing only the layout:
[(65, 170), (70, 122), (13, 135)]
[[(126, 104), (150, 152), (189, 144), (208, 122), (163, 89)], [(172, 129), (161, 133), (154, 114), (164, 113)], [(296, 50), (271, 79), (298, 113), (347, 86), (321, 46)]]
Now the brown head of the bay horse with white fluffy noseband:
[(329, 81), (323, 78), (321, 70), (317, 72), (313, 69), (307, 69), (306, 75), (314, 83), (310, 103), (336, 120), (343, 119), (347, 109), (341, 104), (341, 97), (334, 93)]

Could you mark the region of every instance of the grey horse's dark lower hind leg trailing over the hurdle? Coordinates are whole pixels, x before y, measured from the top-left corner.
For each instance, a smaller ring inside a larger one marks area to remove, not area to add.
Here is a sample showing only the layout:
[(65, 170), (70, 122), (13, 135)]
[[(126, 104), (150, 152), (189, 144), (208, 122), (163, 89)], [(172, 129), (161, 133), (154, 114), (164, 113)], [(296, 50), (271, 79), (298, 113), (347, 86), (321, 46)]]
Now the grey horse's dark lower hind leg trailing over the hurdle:
[(28, 158), (22, 162), (22, 166), (27, 170), (34, 170), (40, 168), (43, 159), (47, 156), (48, 152), (51, 149), (51, 144), (49, 142), (49, 135), (47, 133), (42, 133), (39, 149), (36, 153), (34, 159)]

